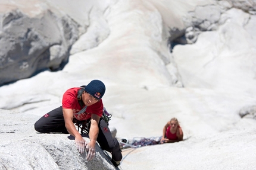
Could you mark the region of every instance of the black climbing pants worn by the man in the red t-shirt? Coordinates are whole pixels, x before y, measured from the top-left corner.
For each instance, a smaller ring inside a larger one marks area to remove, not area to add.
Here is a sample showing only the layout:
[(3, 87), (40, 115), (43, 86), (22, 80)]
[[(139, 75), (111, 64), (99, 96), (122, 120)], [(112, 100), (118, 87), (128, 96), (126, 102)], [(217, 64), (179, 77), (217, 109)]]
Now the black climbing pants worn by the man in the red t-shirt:
[[(107, 123), (101, 118), (99, 121), (99, 134), (97, 142), (102, 149), (111, 152), (112, 159), (121, 161), (122, 155), (119, 142), (113, 138), (108, 128)], [(35, 123), (35, 130), (40, 133), (65, 133), (68, 134), (65, 128), (65, 121), (63, 117), (63, 108), (58, 107), (46, 113), (43, 117), (39, 118)]]

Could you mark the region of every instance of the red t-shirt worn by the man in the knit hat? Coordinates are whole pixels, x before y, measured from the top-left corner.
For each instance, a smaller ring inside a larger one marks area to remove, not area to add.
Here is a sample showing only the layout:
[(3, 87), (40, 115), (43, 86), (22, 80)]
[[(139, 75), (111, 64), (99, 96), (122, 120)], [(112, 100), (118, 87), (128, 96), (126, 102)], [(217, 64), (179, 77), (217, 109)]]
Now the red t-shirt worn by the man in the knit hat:
[(92, 116), (92, 114), (96, 114), (101, 117), (103, 110), (102, 100), (99, 100), (95, 104), (88, 106), (84, 113), (77, 114), (80, 110), (82, 110), (82, 107), (80, 107), (77, 100), (77, 92), (79, 89), (80, 88), (70, 88), (63, 94), (63, 108), (72, 109), (74, 117), (77, 120), (87, 120)]

